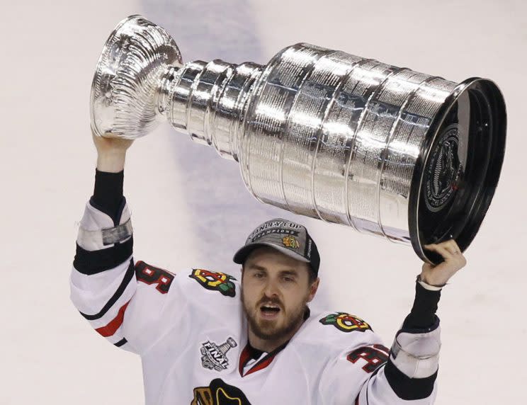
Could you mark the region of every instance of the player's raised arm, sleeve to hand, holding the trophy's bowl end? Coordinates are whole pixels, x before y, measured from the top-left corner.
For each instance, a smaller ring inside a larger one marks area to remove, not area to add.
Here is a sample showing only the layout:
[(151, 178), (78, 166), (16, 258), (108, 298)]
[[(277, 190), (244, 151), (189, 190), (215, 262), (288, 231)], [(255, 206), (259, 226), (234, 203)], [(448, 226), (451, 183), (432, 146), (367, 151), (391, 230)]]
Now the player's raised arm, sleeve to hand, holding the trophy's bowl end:
[(101, 336), (141, 354), (162, 332), (159, 319), (174, 275), (132, 258), (130, 210), (123, 196), (125, 156), (132, 141), (94, 137), (94, 143), (94, 195), (79, 227), (71, 299)]

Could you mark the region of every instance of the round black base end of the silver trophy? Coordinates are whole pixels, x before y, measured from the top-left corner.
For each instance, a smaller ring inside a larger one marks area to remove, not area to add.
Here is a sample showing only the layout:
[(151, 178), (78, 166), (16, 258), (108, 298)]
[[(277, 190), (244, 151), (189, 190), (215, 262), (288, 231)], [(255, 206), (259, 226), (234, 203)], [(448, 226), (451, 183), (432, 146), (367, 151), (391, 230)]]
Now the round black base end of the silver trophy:
[(424, 261), (442, 261), (426, 244), (455, 239), (465, 251), (474, 239), (497, 187), (505, 132), (504, 98), (486, 79), (460, 83), (436, 115), (409, 199), (412, 246)]

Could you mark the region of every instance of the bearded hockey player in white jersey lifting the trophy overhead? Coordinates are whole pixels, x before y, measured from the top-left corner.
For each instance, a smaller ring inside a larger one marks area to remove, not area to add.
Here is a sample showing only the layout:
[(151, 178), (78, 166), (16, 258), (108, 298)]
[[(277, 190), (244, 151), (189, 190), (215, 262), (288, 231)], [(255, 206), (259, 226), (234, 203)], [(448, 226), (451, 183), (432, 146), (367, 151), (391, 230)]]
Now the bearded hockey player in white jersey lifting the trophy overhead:
[(455, 241), (431, 245), (416, 296), (391, 349), (352, 314), (310, 314), (317, 246), (300, 224), (272, 219), (220, 271), (167, 270), (132, 258), (123, 197), (132, 141), (94, 137), (94, 195), (71, 275), (72, 301), (113, 345), (142, 357), (146, 404), (432, 404), (440, 290), (465, 266)]

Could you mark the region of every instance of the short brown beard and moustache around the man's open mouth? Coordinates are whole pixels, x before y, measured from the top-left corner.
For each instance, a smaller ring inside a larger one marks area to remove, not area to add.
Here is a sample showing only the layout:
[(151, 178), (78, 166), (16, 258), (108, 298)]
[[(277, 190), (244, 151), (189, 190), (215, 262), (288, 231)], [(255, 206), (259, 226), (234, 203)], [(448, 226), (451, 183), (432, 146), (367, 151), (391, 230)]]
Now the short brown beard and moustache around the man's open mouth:
[[(306, 301), (297, 307), (291, 308), (288, 312), (285, 312), (282, 302), (278, 299), (266, 299), (263, 297), (256, 304), (255, 308), (249, 308), (245, 302), (244, 292), (242, 289), (242, 304), (244, 312), (249, 322), (249, 329), (254, 333), (257, 338), (266, 341), (280, 340), (285, 336), (289, 336), (293, 333), (303, 322), (304, 314), (306, 311)], [(263, 302), (272, 302), (280, 306), (280, 312), (285, 317), (282, 324), (278, 324), (276, 320), (256, 319), (255, 311), (258, 312)]]

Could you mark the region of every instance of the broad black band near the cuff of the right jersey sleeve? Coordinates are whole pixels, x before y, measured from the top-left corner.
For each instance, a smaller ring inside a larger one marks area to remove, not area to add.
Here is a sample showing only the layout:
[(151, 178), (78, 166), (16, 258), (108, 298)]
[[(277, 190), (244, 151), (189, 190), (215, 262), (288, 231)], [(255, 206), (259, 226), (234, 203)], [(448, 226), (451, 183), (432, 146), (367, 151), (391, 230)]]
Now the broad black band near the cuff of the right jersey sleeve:
[(395, 367), (390, 359), (385, 365), (385, 376), (397, 397), (405, 401), (412, 401), (430, 397), (433, 391), (433, 383), (436, 381), (437, 371), (430, 377), (410, 378)]

